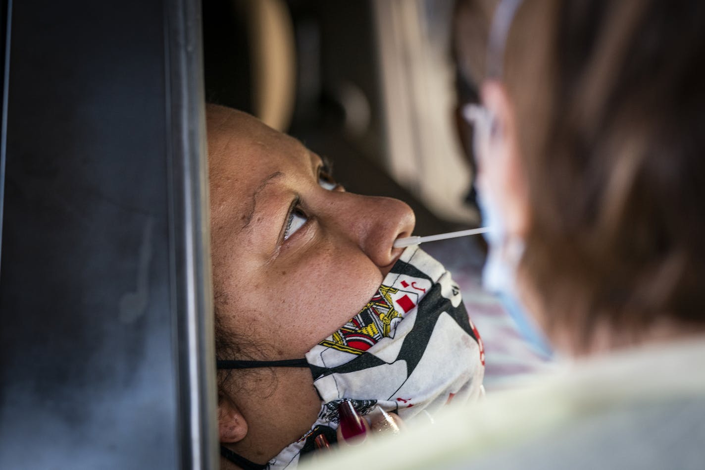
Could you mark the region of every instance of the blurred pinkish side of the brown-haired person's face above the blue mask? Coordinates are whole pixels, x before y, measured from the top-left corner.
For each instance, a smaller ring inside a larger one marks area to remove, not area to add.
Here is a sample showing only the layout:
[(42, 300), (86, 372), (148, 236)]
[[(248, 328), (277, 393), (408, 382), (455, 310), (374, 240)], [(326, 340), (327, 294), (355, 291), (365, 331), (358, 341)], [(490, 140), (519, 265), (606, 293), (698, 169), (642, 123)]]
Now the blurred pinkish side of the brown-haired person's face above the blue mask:
[(508, 235), (524, 237), (529, 228), (529, 191), (523, 169), (514, 106), (501, 82), (482, 85), (482, 103), (494, 117), (491, 155), (481, 170), (484, 183), (501, 205)]

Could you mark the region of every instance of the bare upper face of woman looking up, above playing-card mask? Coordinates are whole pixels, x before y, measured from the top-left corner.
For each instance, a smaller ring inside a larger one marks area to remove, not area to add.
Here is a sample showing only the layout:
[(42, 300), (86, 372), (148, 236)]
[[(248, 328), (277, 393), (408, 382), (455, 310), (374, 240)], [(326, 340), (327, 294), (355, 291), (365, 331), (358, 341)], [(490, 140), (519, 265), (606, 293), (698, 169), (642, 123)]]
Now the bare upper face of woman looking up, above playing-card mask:
[(318, 155), (252, 116), (209, 107), (207, 118), (219, 319), (249, 356), (300, 358), (369, 301), (414, 214), (345, 192)]

